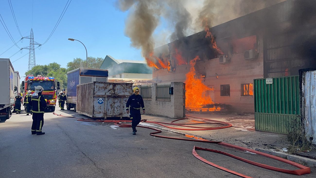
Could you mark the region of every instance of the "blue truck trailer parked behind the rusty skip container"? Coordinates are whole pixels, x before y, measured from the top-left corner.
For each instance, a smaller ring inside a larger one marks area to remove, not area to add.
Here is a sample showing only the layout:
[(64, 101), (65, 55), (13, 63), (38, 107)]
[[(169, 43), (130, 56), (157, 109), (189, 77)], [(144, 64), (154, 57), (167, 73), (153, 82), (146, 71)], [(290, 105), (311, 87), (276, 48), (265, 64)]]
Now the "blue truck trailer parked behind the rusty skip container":
[(67, 110), (74, 108), (76, 111), (77, 85), (88, 82), (107, 82), (109, 71), (93, 68), (76, 68), (67, 72)]

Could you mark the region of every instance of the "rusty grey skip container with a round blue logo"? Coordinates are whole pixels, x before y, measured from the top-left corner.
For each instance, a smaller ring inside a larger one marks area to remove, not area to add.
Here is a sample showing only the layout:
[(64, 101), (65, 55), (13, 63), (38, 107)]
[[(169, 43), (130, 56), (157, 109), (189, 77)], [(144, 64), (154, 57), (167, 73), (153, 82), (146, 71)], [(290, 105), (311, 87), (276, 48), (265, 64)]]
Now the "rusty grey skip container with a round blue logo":
[(129, 117), (127, 99), (132, 95), (132, 84), (89, 82), (77, 85), (77, 111), (91, 118)]

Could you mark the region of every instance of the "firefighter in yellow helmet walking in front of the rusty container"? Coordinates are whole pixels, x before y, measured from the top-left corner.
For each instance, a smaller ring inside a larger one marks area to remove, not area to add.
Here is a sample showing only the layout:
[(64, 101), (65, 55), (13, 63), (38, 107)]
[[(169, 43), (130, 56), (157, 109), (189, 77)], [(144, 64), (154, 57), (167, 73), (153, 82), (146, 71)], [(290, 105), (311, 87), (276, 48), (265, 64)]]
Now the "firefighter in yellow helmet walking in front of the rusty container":
[(127, 114), (130, 114), (130, 118), (132, 119), (133, 135), (136, 135), (136, 126), (142, 119), (140, 109), (143, 109), (143, 114), (145, 114), (145, 107), (143, 97), (139, 95), (139, 88), (137, 86), (133, 88), (133, 92), (134, 94), (132, 94), (126, 102), (126, 112)]

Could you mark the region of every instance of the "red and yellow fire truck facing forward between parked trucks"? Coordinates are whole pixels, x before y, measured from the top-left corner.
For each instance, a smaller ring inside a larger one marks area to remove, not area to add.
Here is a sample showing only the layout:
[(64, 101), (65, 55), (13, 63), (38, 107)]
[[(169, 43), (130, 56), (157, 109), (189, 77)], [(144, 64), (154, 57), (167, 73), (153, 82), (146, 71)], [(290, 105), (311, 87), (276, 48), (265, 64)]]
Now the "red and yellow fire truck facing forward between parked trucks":
[[(24, 81), (22, 81), (24, 95), (27, 94), (28, 90), (31, 90), (33, 94), (36, 86), (42, 86), (44, 88), (42, 95), (44, 95), (44, 98), (47, 100), (47, 108), (51, 111), (55, 111), (57, 99), (55, 78), (43, 77), (41, 75), (37, 75), (37, 77), (27, 75)], [(59, 82), (57, 82), (57, 86), (57, 90), (59, 90)]]

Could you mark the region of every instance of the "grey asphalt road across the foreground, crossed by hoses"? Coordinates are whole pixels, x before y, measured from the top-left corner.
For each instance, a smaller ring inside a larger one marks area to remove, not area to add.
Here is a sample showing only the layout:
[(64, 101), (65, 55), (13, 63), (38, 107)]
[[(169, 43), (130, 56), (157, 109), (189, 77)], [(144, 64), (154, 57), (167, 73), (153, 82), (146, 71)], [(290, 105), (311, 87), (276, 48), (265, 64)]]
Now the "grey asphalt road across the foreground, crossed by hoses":
[[(62, 113), (56, 109), (57, 113)], [(64, 111), (74, 115), (75, 112)], [(108, 123), (79, 122), (44, 114), (45, 135), (31, 135), (32, 116), (25, 112), (0, 123), (0, 177), (238, 177), (199, 161), (194, 145), (218, 149), (280, 168), (296, 169), (260, 155), (217, 144), (149, 136), (151, 130), (113, 127)], [(163, 135), (183, 137), (164, 132)], [(250, 165), (217, 153), (197, 150), (205, 159), (252, 177), (316, 177), (289, 175)]]

